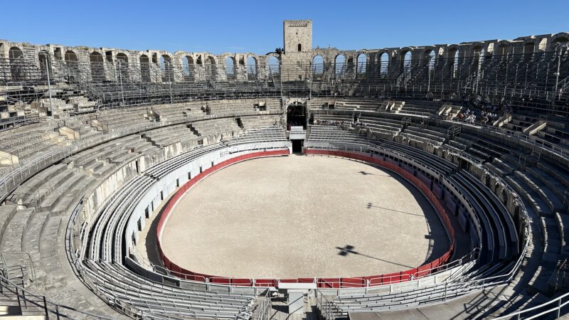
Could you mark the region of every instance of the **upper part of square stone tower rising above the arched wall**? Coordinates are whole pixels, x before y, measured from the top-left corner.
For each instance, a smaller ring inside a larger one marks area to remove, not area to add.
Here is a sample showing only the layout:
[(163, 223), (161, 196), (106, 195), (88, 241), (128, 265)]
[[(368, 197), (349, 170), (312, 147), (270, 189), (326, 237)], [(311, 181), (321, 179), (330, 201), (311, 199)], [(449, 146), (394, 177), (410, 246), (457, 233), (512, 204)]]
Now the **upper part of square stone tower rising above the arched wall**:
[(285, 55), (312, 51), (312, 20), (285, 20)]

